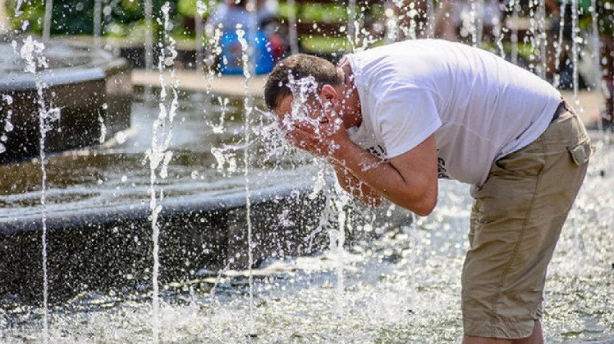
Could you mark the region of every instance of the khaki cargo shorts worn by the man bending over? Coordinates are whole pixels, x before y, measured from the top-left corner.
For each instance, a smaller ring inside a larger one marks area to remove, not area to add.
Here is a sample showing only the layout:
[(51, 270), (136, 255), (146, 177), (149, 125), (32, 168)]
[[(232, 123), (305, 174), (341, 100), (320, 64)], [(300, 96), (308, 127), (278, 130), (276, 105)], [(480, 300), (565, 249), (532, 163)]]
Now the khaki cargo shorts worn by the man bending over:
[(526, 338), (542, 316), (546, 267), (592, 153), (584, 125), (566, 106), (542, 136), (495, 161), (486, 182), (472, 187), (462, 272), (466, 335)]

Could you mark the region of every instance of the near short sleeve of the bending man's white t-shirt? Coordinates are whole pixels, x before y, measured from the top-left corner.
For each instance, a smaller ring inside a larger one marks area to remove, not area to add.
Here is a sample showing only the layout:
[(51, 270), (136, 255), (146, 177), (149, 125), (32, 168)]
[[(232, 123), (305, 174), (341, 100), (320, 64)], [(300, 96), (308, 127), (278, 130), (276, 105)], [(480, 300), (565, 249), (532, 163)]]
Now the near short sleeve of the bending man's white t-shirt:
[(435, 99), (428, 90), (391, 87), (376, 104), (375, 128), (388, 158), (412, 150), (441, 126)]

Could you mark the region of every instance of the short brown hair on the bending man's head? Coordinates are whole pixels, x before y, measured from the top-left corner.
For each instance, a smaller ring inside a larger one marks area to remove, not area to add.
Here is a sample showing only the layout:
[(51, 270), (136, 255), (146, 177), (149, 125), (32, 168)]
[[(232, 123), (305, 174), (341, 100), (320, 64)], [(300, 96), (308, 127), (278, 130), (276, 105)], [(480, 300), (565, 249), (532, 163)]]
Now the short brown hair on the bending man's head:
[(317, 82), (318, 90), (324, 85), (336, 86), (343, 82), (335, 65), (323, 58), (306, 54), (289, 56), (278, 62), (266, 80), (265, 102), (269, 110), (276, 109), (283, 97), (292, 94), (288, 86), (290, 74), (294, 80), (311, 75)]

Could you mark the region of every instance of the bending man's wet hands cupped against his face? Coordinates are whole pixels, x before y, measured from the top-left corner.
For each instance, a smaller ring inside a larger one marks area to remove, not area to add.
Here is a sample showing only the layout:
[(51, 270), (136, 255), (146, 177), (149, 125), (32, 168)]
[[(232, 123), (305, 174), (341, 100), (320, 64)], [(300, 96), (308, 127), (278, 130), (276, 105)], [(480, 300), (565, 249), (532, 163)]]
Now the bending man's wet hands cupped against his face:
[(294, 120), (292, 130), (286, 134), (293, 146), (322, 158), (331, 158), (333, 153), (349, 141), (341, 118), (333, 111), (324, 110), (318, 120)]

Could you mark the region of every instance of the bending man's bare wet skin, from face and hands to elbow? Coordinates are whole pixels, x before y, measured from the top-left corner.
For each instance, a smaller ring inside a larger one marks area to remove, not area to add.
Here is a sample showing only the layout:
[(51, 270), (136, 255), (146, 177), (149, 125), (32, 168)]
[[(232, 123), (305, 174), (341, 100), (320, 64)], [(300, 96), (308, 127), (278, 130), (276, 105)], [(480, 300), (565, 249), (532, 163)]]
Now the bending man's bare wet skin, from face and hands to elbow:
[[(348, 70), (344, 71), (347, 75)], [(308, 120), (289, 118), (292, 96), (282, 98), (275, 113), (286, 138), (298, 148), (327, 159), (346, 191), (367, 204), (381, 197), (421, 216), (437, 204), (437, 148), (431, 135), (402, 155), (381, 160), (349, 139), (346, 129), (362, 121), (360, 99), (348, 78), (342, 85), (323, 85), (305, 104)], [(290, 126), (288, 124), (291, 124)]]

